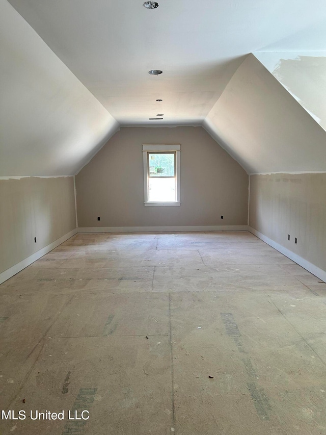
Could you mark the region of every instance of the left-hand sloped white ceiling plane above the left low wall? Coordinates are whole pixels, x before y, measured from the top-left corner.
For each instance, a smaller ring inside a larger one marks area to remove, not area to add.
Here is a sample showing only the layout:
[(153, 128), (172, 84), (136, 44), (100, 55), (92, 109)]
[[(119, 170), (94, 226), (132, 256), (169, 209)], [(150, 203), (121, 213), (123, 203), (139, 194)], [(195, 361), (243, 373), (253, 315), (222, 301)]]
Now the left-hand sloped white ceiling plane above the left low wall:
[(0, 0), (0, 175), (70, 175), (118, 122)]

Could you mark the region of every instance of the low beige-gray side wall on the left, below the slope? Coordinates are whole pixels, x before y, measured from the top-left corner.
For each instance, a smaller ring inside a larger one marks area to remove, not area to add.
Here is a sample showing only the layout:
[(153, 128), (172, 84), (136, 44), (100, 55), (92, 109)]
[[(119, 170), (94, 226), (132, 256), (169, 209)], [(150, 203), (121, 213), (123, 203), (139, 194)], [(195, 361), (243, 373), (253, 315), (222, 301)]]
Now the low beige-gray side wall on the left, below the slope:
[(75, 227), (73, 177), (0, 180), (0, 273)]

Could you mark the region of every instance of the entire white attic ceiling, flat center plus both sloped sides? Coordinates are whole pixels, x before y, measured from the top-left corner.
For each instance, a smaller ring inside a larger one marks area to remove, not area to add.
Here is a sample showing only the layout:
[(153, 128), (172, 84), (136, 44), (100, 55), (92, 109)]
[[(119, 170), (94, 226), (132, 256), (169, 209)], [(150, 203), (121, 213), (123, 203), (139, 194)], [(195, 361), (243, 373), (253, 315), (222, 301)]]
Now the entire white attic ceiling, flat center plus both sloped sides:
[(143, 3), (0, 0), (0, 175), (76, 173), (126, 125), (203, 125), (248, 172), (326, 170), (324, 0)]

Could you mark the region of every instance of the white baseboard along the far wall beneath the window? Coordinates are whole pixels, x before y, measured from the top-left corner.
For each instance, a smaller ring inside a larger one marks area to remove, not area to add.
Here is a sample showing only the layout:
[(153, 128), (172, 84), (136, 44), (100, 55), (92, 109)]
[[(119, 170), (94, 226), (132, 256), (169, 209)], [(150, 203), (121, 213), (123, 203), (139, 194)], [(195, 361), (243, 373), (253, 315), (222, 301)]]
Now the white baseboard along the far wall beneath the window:
[(248, 231), (248, 225), (194, 226), (89, 226), (77, 228), (78, 233), (162, 233), (172, 231)]

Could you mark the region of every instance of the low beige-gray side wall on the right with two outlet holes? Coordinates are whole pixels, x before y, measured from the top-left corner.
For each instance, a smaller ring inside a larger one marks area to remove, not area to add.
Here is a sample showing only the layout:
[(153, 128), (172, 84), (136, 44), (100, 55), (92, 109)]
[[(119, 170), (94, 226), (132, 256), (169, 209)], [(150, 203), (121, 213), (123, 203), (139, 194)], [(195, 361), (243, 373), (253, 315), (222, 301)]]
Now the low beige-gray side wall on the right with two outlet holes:
[(249, 225), (326, 271), (326, 173), (251, 175)]

